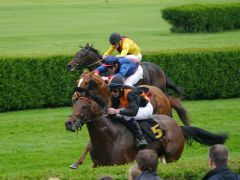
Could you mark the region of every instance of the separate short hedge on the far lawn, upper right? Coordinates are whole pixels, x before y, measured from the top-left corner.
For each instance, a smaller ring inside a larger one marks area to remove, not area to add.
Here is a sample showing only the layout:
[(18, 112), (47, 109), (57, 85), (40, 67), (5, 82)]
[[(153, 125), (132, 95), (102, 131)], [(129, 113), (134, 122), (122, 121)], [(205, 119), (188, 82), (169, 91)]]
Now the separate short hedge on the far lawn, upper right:
[(240, 28), (240, 3), (193, 4), (162, 10), (173, 32), (216, 32)]

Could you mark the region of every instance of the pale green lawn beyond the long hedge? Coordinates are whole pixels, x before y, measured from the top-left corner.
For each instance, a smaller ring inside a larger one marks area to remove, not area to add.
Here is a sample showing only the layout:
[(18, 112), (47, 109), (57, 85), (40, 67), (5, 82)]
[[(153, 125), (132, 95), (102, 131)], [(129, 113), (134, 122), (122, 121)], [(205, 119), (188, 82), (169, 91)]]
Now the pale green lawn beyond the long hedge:
[[(106, 3), (108, 2), (108, 3)], [(240, 31), (176, 34), (160, 10), (228, 0), (0, 0), (0, 56), (74, 54), (87, 42), (104, 52), (108, 36), (134, 39), (143, 53), (240, 47)], [(239, 2), (239, 0), (231, 0)]]

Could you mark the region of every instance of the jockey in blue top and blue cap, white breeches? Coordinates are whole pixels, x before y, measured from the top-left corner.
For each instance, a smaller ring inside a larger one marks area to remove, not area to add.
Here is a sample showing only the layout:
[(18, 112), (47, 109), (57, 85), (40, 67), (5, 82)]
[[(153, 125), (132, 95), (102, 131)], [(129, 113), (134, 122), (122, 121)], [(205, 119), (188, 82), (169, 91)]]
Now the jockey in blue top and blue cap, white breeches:
[(133, 86), (143, 76), (143, 69), (138, 61), (127, 57), (107, 56), (103, 64), (95, 70), (95, 74), (101, 75), (106, 72), (109, 73), (110, 77), (113, 75), (121, 76), (125, 79), (127, 86)]

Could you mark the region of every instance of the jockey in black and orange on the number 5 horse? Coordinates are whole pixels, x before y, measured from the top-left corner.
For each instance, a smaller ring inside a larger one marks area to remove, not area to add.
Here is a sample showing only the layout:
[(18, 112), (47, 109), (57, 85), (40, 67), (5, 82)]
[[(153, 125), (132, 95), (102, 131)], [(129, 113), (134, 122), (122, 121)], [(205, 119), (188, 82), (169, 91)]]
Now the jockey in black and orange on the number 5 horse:
[(108, 86), (112, 94), (112, 107), (108, 108), (108, 113), (123, 117), (127, 121), (133, 128), (138, 148), (147, 145), (136, 120), (152, 117), (153, 106), (149, 98), (139, 88), (124, 85), (124, 80), (120, 76), (114, 76)]

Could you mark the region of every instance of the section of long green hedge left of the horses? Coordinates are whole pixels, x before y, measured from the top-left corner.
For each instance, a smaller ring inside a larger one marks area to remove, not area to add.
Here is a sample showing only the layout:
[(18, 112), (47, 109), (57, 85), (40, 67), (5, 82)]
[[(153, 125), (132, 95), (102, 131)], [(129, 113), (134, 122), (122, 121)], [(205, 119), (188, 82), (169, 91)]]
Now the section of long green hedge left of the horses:
[(79, 72), (68, 73), (70, 57), (0, 60), (0, 111), (71, 104)]

